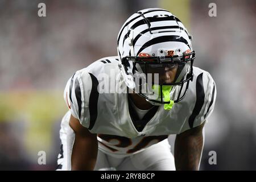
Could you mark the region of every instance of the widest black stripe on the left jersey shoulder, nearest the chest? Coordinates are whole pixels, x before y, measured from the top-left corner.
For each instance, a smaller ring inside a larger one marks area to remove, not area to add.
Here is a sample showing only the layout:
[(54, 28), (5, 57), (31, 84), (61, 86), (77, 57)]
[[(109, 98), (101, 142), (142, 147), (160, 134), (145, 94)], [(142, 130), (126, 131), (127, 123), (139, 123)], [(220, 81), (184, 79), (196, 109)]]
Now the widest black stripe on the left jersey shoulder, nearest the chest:
[(92, 90), (90, 92), (89, 98), (89, 113), (90, 113), (90, 125), (88, 127), (89, 130), (92, 130), (98, 115), (98, 80), (97, 78), (90, 74), (90, 78), (92, 79)]

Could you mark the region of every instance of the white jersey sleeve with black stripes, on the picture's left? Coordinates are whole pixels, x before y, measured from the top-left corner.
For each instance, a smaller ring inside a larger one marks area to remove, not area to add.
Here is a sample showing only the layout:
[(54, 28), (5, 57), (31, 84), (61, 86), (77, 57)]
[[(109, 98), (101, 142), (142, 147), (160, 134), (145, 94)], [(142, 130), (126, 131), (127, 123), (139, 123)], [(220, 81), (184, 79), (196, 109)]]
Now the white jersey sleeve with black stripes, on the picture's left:
[(82, 126), (90, 125), (89, 97), (92, 79), (88, 72), (77, 71), (69, 78), (64, 90), (64, 100), (73, 117), (79, 119)]

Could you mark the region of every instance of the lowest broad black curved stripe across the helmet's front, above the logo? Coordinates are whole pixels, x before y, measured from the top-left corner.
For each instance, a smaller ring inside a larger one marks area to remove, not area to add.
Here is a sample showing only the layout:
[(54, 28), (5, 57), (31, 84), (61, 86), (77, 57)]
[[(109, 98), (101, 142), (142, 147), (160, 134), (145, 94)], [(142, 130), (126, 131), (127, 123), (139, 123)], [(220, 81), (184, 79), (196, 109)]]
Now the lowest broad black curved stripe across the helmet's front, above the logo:
[(141, 51), (143, 51), (143, 49), (146, 49), (147, 47), (152, 46), (154, 44), (163, 43), (163, 42), (182, 42), (190, 48), (187, 40), (181, 36), (177, 36), (177, 35), (159, 36), (158, 38), (151, 39), (148, 42), (144, 43), (144, 45), (139, 49), (137, 56)]

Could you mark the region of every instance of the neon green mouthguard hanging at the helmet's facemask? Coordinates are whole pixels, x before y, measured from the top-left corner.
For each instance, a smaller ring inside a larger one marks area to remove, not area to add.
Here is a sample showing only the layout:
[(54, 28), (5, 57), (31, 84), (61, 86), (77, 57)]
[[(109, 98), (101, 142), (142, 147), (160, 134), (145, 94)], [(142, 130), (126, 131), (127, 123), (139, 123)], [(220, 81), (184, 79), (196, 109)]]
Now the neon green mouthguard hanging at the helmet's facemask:
[(169, 104), (164, 104), (164, 110), (171, 110), (172, 106), (174, 105), (174, 101), (171, 100), (171, 98), (170, 98), (172, 86), (171, 85), (162, 85), (162, 94), (160, 94), (160, 86), (159, 85), (153, 85), (152, 89), (158, 90), (159, 96), (162, 96), (162, 94), (163, 94), (164, 102), (170, 102)]

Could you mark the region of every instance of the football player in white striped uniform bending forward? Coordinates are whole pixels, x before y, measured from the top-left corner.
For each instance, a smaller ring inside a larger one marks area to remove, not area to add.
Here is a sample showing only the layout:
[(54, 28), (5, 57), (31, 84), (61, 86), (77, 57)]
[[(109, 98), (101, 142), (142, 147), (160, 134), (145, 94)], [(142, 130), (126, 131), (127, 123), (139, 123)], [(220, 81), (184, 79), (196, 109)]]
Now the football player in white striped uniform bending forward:
[[(118, 34), (118, 56), (67, 82), (58, 169), (198, 170), (216, 86), (193, 67), (191, 40), (167, 10), (131, 15)], [(173, 156), (167, 138), (174, 134)]]

